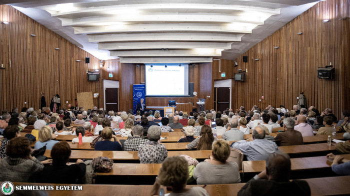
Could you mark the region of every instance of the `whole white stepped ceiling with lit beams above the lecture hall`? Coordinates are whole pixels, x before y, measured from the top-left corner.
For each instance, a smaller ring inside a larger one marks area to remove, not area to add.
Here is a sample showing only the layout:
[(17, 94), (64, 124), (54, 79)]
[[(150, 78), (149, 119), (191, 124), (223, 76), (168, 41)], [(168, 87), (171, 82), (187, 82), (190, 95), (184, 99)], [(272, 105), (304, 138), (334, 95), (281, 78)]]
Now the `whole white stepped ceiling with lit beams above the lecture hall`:
[[(101, 59), (118, 56), (121, 62), (158, 63), (211, 62), (212, 57), (233, 59), (317, 1), (57, 2), (10, 0), (9, 3), (38, 22), (44, 20), (45, 26), (91, 54), (99, 58), (103, 54)], [(49, 23), (50, 19), (55, 21), (53, 25)], [(67, 30), (71, 28), (73, 31)], [(98, 52), (101, 54), (97, 54)]]

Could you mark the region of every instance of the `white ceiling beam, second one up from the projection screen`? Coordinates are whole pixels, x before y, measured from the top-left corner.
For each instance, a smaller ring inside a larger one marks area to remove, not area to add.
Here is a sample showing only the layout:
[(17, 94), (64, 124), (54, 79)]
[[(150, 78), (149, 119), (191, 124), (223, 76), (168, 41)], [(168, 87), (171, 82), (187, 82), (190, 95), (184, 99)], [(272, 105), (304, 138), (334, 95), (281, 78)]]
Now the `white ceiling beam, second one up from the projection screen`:
[(111, 50), (111, 56), (221, 56), (222, 49), (195, 48), (187, 50)]

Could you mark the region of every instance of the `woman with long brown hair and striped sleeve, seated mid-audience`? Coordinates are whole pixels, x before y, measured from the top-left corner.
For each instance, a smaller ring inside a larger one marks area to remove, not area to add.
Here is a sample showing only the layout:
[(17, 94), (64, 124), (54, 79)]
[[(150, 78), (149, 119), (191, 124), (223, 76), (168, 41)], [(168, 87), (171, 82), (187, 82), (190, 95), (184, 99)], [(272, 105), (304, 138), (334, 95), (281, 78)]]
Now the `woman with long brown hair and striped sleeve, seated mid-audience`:
[(215, 138), (212, 135), (211, 128), (208, 125), (203, 125), (200, 130), (200, 136), (187, 144), (186, 149), (192, 150), (197, 148), (197, 150), (211, 150), (211, 144), (214, 140)]

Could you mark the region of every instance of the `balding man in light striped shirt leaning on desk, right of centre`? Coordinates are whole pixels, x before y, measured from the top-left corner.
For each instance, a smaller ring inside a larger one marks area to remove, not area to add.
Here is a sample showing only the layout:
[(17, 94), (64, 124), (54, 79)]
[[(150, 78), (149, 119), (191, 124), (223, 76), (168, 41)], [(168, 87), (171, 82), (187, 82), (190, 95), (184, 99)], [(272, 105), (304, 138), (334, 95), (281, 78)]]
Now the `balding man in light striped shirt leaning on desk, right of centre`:
[(252, 136), (252, 142), (241, 140), (232, 143), (231, 147), (240, 150), (248, 161), (266, 160), (269, 154), (278, 151), (276, 143), (264, 139), (265, 131), (261, 127), (255, 127)]

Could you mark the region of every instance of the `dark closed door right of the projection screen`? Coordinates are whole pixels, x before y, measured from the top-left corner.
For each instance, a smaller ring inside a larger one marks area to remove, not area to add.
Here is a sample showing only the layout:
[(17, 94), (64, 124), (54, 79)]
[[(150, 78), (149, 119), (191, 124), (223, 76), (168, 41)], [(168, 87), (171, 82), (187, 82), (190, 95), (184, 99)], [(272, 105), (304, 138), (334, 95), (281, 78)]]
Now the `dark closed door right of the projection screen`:
[(229, 108), (229, 87), (214, 88), (214, 110), (224, 111)]

